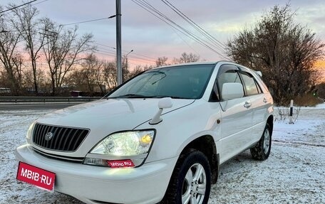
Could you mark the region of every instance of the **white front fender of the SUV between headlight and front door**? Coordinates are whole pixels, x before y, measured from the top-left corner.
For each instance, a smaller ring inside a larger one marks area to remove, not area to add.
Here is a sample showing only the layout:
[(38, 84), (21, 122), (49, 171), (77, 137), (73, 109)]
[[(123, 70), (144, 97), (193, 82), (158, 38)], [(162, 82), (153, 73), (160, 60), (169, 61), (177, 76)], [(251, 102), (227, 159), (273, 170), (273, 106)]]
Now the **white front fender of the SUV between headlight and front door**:
[[(202, 119), (198, 120), (198, 115)], [(220, 126), (217, 125), (217, 119), (220, 117), (219, 104), (207, 107), (206, 102), (202, 100), (196, 100), (187, 107), (162, 115), (162, 122), (155, 125), (157, 136), (146, 161), (178, 157), (190, 141), (202, 135), (212, 135), (216, 141), (219, 140)], [(177, 129), (170, 129), (172, 126)], [(150, 124), (145, 123), (137, 129), (150, 127), (152, 128)]]

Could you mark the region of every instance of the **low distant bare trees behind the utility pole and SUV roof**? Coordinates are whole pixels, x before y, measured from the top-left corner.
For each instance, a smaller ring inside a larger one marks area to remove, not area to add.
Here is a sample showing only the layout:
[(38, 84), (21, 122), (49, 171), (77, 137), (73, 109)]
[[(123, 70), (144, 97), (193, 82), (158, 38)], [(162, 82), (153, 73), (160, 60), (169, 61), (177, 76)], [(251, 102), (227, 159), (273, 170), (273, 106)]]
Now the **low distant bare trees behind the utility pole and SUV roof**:
[[(175, 63), (191, 63), (200, 60), (199, 55), (192, 53), (182, 53), (180, 58), (174, 58), (172, 64)], [(168, 58), (162, 57), (155, 60), (155, 65), (137, 65), (133, 70), (128, 69), (126, 58), (122, 58), (123, 81), (130, 77), (138, 75), (145, 70), (170, 65)], [(115, 61), (99, 60), (95, 54), (91, 53), (83, 59), (79, 68), (73, 69), (66, 77), (66, 85), (75, 87), (76, 90), (86, 90), (89, 93), (100, 92), (105, 93), (117, 85), (117, 73)]]

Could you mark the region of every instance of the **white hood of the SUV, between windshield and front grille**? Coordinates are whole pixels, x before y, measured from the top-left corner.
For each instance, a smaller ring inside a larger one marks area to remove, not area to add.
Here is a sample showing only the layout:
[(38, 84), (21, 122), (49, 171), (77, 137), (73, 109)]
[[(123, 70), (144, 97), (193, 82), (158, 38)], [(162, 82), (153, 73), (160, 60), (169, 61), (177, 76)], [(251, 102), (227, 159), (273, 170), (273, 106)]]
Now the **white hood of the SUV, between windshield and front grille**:
[[(41, 149), (48, 153), (63, 156), (86, 156), (100, 140), (116, 131), (135, 129), (150, 121), (158, 112), (161, 99), (103, 99), (86, 104), (58, 110), (36, 120), (37, 123), (61, 127), (90, 129), (85, 141), (73, 153), (64, 153)], [(172, 107), (164, 109), (162, 114), (191, 104), (195, 100), (172, 100)], [(153, 128), (155, 126), (153, 125)], [(34, 146), (40, 149), (38, 146)], [(82, 148), (81, 148), (82, 147)]]

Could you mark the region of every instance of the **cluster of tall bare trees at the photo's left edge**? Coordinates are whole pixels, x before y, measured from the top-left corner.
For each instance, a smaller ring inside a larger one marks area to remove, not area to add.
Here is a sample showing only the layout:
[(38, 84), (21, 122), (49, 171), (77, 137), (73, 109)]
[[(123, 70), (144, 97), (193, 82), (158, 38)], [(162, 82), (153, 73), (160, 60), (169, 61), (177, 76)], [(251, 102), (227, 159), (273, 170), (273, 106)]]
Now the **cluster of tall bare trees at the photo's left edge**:
[[(12, 95), (26, 89), (37, 95), (40, 87), (49, 84), (56, 95), (81, 55), (96, 50), (93, 35), (78, 36), (77, 26), (64, 28), (50, 18), (39, 18), (31, 4), (15, 7), (9, 4), (6, 8), (13, 9), (0, 16), (1, 86), (9, 87)], [(47, 70), (41, 69), (43, 64)]]

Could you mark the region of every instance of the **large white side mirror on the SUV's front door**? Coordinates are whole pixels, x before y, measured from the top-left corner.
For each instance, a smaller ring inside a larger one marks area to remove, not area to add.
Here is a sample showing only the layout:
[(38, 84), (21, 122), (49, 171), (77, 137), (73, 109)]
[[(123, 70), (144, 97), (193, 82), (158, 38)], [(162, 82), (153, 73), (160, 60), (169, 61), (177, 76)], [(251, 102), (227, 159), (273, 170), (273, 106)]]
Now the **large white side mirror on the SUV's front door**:
[(224, 83), (222, 85), (222, 100), (233, 100), (244, 96), (244, 89), (241, 83)]

